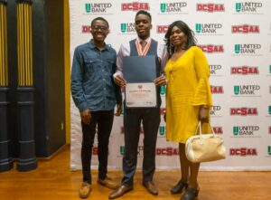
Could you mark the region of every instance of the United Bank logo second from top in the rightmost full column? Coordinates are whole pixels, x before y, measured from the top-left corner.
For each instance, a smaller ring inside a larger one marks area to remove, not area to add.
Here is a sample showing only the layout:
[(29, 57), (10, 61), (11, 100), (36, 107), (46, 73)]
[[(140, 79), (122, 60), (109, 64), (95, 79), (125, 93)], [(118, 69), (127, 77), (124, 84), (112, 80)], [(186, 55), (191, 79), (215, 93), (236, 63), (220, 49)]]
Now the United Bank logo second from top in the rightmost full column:
[(262, 45), (259, 43), (235, 44), (234, 52), (236, 53), (236, 55), (256, 55), (261, 48)]

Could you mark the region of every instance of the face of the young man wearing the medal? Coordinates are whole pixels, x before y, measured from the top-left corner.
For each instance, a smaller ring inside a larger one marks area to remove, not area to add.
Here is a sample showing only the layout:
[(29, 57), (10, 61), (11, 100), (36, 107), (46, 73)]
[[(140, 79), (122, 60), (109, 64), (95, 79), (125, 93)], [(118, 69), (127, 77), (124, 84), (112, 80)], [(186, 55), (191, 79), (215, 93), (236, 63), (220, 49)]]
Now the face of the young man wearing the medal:
[(135, 30), (139, 38), (145, 40), (151, 34), (151, 19), (146, 14), (138, 14), (135, 16)]

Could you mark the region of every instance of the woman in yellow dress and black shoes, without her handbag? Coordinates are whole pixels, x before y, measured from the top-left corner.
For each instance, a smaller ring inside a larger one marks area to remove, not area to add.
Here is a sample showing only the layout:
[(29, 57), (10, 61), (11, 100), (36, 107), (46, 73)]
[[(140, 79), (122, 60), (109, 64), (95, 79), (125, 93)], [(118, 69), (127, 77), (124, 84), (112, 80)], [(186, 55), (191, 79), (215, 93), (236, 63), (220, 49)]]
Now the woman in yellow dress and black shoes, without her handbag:
[(209, 64), (204, 53), (196, 46), (192, 30), (182, 21), (168, 27), (165, 42), (169, 53), (164, 68), (167, 79), (166, 139), (179, 143), (182, 171), (181, 180), (171, 192), (179, 194), (186, 189), (181, 199), (192, 200), (199, 194), (197, 177), (200, 164), (186, 158), (185, 142), (194, 135), (199, 120), (210, 119)]

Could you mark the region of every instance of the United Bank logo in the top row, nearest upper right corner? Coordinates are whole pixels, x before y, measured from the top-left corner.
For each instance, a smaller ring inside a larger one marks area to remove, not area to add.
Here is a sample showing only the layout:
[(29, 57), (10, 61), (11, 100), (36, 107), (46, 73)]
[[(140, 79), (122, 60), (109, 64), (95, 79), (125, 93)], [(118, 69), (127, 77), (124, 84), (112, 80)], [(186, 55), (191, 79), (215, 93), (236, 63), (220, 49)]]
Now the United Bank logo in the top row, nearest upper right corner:
[(236, 3), (235, 4), (235, 11), (238, 14), (241, 14), (241, 13), (255, 14), (255, 13), (258, 13), (258, 9), (262, 6), (263, 6), (263, 4), (260, 2)]

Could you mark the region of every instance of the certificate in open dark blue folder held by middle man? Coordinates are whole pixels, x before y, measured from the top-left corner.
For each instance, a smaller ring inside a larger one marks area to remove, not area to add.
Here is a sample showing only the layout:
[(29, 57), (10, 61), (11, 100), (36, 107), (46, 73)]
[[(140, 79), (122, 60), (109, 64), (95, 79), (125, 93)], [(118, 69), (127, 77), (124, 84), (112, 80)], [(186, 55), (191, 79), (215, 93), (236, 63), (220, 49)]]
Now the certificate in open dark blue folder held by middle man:
[(157, 107), (156, 56), (126, 56), (123, 60), (126, 108)]

